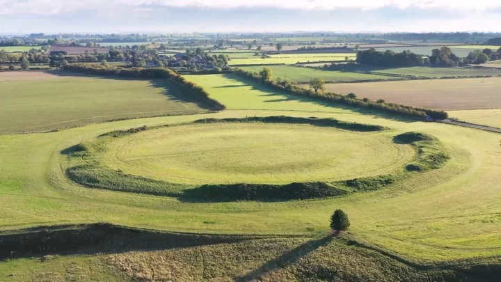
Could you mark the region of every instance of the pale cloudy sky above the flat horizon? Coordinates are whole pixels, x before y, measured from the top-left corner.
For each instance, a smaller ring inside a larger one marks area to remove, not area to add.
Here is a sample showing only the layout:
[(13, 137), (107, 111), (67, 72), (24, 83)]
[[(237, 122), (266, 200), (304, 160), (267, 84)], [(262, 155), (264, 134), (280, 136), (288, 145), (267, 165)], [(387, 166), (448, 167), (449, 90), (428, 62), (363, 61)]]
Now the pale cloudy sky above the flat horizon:
[(0, 33), (501, 31), (501, 0), (0, 0)]

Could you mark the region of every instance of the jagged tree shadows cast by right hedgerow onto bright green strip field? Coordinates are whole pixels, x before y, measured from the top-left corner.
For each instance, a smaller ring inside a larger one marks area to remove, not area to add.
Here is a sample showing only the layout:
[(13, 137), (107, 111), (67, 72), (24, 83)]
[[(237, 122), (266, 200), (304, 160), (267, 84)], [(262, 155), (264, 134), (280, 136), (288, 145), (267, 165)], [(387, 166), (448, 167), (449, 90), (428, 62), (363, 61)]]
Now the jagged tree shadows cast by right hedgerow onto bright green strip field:
[[(249, 79), (239, 77), (237, 75), (225, 75), (230, 81), (234, 81), (234, 86), (241, 86), (241, 84), (246, 84), (251, 86), (253, 90), (261, 91), (265, 94), (261, 96), (270, 97), (270, 100), (264, 101), (265, 103), (276, 103), (276, 102), (286, 102), (286, 101), (297, 101), (309, 104), (317, 104), (319, 106), (333, 108), (333, 109), (345, 109), (347, 111), (352, 111), (354, 113), (362, 113), (365, 115), (375, 116), (376, 118), (385, 118), (388, 120), (397, 120), (404, 123), (415, 123), (418, 120), (410, 116), (399, 116), (397, 114), (382, 113), (381, 111), (372, 111), (369, 109), (362, 109), (358, 107), (349, 107), (344, 104), (337, 104), (335, 102), (329, 102), (324, 100), (316, 100), (310, 97), (303, 97), (300, 95), (293, 95), (287, 91), (279, 91), (278, 89), (271, 88), (269, 86), (257, 83), (249, 83)], [(285, 96), (285, 97), (284, 97)]]

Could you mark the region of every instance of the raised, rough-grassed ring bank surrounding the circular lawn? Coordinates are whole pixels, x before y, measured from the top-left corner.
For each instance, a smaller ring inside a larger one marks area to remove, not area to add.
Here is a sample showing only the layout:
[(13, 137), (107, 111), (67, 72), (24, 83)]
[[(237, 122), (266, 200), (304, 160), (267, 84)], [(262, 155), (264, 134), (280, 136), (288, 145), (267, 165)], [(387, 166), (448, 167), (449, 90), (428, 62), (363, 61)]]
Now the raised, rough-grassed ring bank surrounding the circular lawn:
[[(333, 118), (293, 118), (289, 116), (269, 116), (251, 118), (202, 119), (193, 123), (294, 123), (315, 126), (335, 127), (343, 130), (360, 132), (382, 131), (385, 127), (365, 125), (359, 123), (345, 123)], [(184, 123), (179, 125), (193, 124)], [(167, 126), (167, 125), (165, 125)], [(413, 162), (406, 164), (402, 171), (391, 175), (379, 175), (371, 178), (352, 179), (340, 182), (294, 182), (287, 185), (247, 184), (237, 183), (228, 185), (185, 185), (159, 180), (152, 180), (137, 175), (128, 175), (122, 171), (114, 171), (100, 164), (96, 155), (106, 148), (100, 143), (110, 139), (127, 136), (159, 127), (138, 127), (125, 131), (102, 134), (97, 141), (79, 144), (64, 150), (63, 154), (70, 157), (91, 159), (87, 164), (71, 166), (66, 169), (67, 178), (79, 185), (90, 188), (108, 189), (112, 191), (127, 191), (138, 194), (155, 196), (177, 197), (186, 202), (227, 202), (227, 201), (290, 201), (310, 198), (328, 198), (344, 196), (355, 191), (370, 191), (381, 189), (387, 185), (411, 177), (411, 171), (422, 172), (429, 169), (438, 169), (447, 161), (448, 156), (443, 152), (440, 141), (434, 136), (407, 132), (395, 136), (395, 143), (408, 144), (415, 147), (417, 157)]]

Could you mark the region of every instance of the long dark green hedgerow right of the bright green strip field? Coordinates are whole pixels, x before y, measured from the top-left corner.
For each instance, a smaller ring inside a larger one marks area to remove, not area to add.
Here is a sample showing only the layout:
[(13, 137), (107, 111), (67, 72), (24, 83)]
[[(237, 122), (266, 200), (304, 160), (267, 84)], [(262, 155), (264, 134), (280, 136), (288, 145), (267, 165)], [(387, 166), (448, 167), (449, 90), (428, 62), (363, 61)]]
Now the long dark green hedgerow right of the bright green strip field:
[[(260, 76), (254, 72), (247, 72), (246, 70), (235, 69), (235, 75), (239, 77), (244, 77), (246, 79), (252, 79), (253, 81), (262, 83)], [(422, 109), (417, 107), (405, 106), (402, 104), (393, 104), (386, 102), (372, 102), (370, 100), (361, 100), (358, 98), (350, 98), (345, 95), (340, 95), (337, 93), (315, 93), (310, 89), (302, 88), (301, 86), (296, 86), (294, 84), (290, 84), (287, 81), (274, 81), (273, 79), (264, 81), (264, 84), (275, 88), (279, 91), (285, 91), (287, 93), (291, 93), (293, 95), (299, 96), (307, 96), (312, 99), (324, 100), (328, 102), (333, 102), (336, 104), (344, 104), (351, 107), (358, 107), (363, 109), (369, 109), (373, 111), (382, 111), (385, 113), (396, 113), (405, 116), (415, 116), (418, 118), (424, 118), (425, 116), (430, 116), (431, 118), (442, 120), (448, 117), (447, 112), (445, 111), (436, 111), (432, 109)]]

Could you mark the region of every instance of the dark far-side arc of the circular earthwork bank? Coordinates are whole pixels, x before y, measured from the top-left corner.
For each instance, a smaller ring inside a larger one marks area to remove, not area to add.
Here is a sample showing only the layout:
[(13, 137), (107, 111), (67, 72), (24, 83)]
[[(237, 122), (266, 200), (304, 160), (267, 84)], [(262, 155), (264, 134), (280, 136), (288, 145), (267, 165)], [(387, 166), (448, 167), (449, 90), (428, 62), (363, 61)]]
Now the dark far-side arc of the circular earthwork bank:
[(381, 131), (385, 127), (380, 125), (366, 125), (362, 123), (347, 123), (335, 118), (297, 118), (292, 116), (253, 116), (248, 118), (204, 118), (195, 120), (193, 123), (296, 123), (316, 126), (336, 127), (343, 130), (354, 130), (362, 132)]

